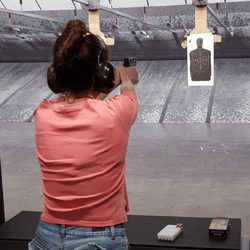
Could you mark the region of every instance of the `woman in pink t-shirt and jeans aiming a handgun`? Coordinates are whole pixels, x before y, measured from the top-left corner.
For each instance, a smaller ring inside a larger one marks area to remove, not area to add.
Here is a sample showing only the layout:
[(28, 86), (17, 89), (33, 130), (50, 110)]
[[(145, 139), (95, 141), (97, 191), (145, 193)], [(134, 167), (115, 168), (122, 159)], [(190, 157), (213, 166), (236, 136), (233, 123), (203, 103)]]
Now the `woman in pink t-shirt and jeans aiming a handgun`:
[(114, 70), (121, 95), (102, 101), (115, 87), (95, 82), (97, 65), (109, 61), (96, 38), (81, 20), (70, 20), (54, 45), (47, 77), (61, 96), (34, 111), (44, 209), (29, 250), (129, 249), (124, 172), (138, 72), (121, 64)]

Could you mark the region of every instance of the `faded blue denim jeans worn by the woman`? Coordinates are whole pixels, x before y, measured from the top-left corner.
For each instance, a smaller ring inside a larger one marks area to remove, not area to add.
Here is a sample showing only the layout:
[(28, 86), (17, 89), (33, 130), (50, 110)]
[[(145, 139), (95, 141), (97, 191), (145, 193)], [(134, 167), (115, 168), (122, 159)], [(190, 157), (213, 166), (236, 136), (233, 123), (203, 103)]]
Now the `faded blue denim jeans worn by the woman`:
[(128, 250), (124, 223), (110, 227), (50, 224), (40, 219), (29, 250)]

